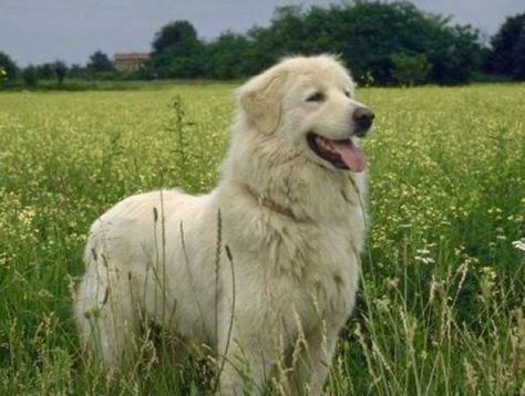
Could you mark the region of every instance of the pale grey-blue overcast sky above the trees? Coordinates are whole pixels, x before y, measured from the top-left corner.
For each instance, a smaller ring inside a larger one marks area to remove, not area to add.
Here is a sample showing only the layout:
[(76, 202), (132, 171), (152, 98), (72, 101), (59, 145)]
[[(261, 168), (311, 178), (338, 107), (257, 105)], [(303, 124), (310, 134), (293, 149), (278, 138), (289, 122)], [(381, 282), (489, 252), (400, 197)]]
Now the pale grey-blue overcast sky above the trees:
[[(327, 6), (340, 0), (0, 0), (0, 51), (19, 65), (64, 60), (84, 64), (96, 50), (148, 51), (154, 33), (188, 20), (203, 39), (226, 29), (267, 25), (276, 6)], [(413, 0), (420, 9), (454, 15), (485, 35), (505, 17), (525, 12), (525, 0)]]

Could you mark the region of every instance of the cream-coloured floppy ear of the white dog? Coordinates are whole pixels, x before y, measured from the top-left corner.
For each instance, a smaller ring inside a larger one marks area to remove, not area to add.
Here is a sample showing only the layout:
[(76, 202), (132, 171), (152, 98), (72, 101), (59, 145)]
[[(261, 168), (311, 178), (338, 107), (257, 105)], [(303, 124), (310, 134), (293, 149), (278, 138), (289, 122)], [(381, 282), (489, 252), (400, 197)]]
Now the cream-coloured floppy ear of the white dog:
[(255, 76), (238, 91), (238, 103), (254, 126), (272, 133), (279, 125), (286, 72), (269, 70)]

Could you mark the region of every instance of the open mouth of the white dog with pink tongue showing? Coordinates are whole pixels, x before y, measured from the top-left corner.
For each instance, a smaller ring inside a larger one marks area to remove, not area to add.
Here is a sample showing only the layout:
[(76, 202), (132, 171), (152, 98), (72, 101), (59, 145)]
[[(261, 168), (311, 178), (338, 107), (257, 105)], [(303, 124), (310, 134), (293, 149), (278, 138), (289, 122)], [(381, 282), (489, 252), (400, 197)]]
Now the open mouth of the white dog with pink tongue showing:
[(310, 132), (307, 140), (317, 156), (338, 169), (361, 173), (367, 168), (363, 152), (351, 139), (331, 140)]

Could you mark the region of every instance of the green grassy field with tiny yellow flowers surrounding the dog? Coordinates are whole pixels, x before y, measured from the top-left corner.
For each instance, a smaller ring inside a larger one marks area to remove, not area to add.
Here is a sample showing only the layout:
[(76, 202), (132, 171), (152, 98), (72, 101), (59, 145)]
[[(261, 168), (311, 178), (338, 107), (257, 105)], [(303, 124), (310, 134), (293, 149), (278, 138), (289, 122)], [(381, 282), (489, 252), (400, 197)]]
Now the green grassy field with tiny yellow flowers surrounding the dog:
[[(116, 382), (71, 315), (90, 223), (217, 180), (228, 84), (0, 93), (0, 395), (202, 394), (188, 361)], [(371, 223), (330, 395), (525, 395), (525, 85), (367, 88)]]

